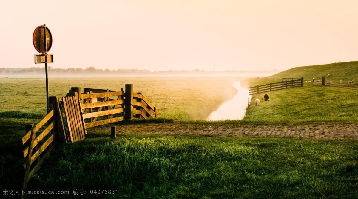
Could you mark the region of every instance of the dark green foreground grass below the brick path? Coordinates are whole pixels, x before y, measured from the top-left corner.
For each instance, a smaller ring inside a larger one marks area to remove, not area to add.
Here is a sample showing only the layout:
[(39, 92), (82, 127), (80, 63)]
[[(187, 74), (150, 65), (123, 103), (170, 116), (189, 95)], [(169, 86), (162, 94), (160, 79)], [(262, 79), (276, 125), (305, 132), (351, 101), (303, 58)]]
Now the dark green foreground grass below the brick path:
[[(357, 142), (91, 130), (58, 148), (36, 189), (114, 189), (109, 198), (355, 198)], [(66, 195), (64, 195), (66, 197)], [(105, 197), (105, 198), (106, 198)], [(79, 198), (79, 197), (78, 197)]]

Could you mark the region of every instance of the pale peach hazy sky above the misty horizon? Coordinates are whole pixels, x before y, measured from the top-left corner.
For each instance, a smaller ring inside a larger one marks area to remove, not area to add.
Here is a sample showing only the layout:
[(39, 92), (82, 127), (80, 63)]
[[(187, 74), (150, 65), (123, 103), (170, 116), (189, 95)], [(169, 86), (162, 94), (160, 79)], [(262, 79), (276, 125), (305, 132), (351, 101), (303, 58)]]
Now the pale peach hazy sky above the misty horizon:
[(1, 67), (287, 70), (358, 60), (357, 0), (0, 1)]

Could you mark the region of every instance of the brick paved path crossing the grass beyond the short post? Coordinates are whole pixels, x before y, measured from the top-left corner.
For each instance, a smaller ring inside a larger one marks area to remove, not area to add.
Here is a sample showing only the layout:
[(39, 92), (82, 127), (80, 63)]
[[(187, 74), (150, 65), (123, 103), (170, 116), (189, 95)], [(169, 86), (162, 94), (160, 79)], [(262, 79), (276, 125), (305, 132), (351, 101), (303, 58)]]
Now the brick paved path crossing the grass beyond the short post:
[(118, 125), (117, 133), (358, 139), (358, 124), (133, 124)]

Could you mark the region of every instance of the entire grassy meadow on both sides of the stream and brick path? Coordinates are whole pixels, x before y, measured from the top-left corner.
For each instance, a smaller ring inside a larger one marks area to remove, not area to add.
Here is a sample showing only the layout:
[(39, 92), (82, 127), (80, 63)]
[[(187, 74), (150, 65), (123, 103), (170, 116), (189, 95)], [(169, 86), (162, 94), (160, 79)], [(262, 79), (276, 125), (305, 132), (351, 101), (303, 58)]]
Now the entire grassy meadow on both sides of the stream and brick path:
[[(50, 95), (73, 86), (120, 90), (134, 84), (159, 109), (160, 117), (131, 122), (225, 125), (235, 123), (357, 123), (357, 90), (305, 84), (253, 95), (243, 120), (204, 120), (236, 93), (231, 78), (53, 79)], [(272, 80), (271, 80), (272, 81)], [(244, 81), (243, 81), (244, 82)], [(270, 82), (247, 79), (247, 86)], [(0, 189), (21, 189), (24, 160), (19, 138), (26, 123), (46, 110), (44, 79), (0, 79)], [(254, 100), (261, 100), (256, 106)], [(120, 122), (114, 125), (126, 125)], [(113, 125), (113, 124), (111, 124)], [(56, 148), (33, 177), (33, 190), (87, 191), (87, 198), (356, 198), (355, 140), (164, 136), (121, 132), (110, 140), (89, 128), (85, 140)], [(93, 189), (114, 195), (88, 194)], [(37, 198), (48, 198), (38, 195)], [(62, 195), (61, 198), (82, 198)]]

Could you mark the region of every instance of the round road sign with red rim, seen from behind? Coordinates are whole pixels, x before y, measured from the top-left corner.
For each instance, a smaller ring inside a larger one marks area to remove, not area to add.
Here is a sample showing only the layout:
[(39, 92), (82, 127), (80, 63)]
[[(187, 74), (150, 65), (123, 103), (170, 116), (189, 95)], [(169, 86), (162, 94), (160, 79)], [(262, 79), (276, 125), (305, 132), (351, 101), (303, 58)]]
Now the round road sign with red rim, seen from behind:
[[(40, 25), (38, 26), (34, 34), (32, 35), (32, 42), (34, 44), (34, 47), (37, 52), (44, 54), (45, 53), (45, 38), (44, 38), (44, 26)], [(50, 30), (46, 27), (46, 46), (47, 46), (47, 52), (50, 51), (52, 46), (52, 34)]]

